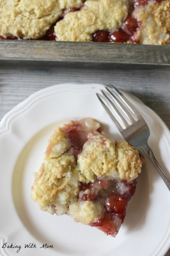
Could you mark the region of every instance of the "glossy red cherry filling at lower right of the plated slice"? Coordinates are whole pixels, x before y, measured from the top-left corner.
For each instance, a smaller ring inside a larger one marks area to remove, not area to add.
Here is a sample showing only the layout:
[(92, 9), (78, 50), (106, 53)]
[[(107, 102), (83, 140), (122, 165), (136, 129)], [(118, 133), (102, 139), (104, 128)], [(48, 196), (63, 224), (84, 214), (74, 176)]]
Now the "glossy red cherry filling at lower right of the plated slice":
[(108, 180), (97, 176), (94, 182), (82, 184), (78, 201), (100, 202), (105, 208), (100, 220), (89, 225), (99, 228), (107, 235), (115, 236), (125, 218), (128, 201), (135, 193), (136, 184), (136, 180), (128, 183), (125, 180)]

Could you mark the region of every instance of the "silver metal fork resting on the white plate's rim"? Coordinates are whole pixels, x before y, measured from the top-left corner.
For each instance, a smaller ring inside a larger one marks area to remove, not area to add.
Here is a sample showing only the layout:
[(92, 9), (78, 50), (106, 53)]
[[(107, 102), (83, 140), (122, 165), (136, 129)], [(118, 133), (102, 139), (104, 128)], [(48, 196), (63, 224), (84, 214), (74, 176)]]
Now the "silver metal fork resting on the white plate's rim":
[[(170, 190), (170, 178), (160, 167), (155, 156), (153, 155), (152, 149), (148, 146), (148, 139), (150, 136), (148, 125), (137, 109), (129, 102), (129, 100), (117, 88), (115, 88), (113, 85), (111, 86), (112, 91), (108, 87), (105, 87), (108, 96), (104, 91), (101, 90), (107, 104), (109, 104), (109, 107), (107, 107), (100, 95), (96, 93), (101, 104), (111, 117), (119, 132), (122, 134), (122, 137), (129, 143), (129, 145), (141, 148), (144, 151)], [(110, 111), (110, 106), (112, 109), (114, 109), (118, 118), (120, 118), (120, 122), (118, 122), (117, 118), (112, 113), (113, 111)]]

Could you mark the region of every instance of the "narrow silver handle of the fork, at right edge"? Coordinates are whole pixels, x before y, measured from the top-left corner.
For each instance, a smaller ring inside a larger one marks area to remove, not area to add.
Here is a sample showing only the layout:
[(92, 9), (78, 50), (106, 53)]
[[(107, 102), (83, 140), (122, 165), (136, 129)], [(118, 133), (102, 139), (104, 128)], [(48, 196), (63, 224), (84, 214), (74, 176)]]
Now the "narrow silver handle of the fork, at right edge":
[(154, 167), (156, 168), (156, 170), (158, 171), (158, 173), (161, 176), (161, 178), (163, 179), (163, 181), (165, 182), (166, 186), (170, 190), (170, 178), (167, 176), (165, 171), (161, 168), (161, 166), (157, 162), (151, 148), (149, 149), (147, 156), (150, 159), (150, 161), (152, 162), (152, 164), (154, 165)]

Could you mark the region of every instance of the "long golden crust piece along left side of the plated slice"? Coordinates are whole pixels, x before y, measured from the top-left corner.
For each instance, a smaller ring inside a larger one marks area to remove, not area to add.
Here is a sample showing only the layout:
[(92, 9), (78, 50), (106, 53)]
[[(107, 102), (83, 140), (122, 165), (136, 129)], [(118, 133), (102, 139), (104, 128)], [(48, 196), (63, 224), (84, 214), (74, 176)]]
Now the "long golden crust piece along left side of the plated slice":
[(64, 154), (69, 145), (69, 140), (66, 140), (66, 135), (60, 127), (48, 142), (48, 154), (32, 188), (33, 200), (37, 201), (44, 211), (48, 210), (46, 207), (49, 205), (55, 204), (58, 205), (55, 212), (64, 214), (68, 202), (74, 202), (77, 197), (81, 178), (75, 157)]

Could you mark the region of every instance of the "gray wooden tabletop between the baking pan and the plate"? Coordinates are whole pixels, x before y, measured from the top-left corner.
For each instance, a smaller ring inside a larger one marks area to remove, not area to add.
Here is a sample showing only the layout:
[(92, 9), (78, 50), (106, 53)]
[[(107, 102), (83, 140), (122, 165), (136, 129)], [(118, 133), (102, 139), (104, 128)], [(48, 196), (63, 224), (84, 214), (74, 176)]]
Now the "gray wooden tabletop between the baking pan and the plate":
[[(137, 96), (170, 129), (170, 67), (62, 68), (0, 64), (0, 120), (38, 90), (60, 83), (113, 84)], [(170, 250), (166, 256), (170, 256)]]

